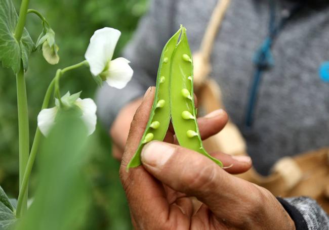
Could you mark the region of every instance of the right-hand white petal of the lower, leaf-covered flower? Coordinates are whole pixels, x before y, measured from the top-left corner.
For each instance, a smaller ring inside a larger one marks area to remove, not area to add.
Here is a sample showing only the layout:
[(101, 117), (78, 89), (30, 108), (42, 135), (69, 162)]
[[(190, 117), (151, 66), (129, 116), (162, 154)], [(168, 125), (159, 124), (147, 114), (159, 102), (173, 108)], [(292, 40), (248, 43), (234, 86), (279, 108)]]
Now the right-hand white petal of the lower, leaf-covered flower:
[(88, 129), (88, 135), (91, 135), (96, 129), (96, 122), (97, 122), (97, 116), (96, 116), (97, 106), (95, 102), (90, 98), (86, 98), (86, 99), (78, 98), (75, 104), (78, 107), (80, 107), (80, 109), (82, 110), (83, 115), (81, 116), (81, 118), (86, 123)]

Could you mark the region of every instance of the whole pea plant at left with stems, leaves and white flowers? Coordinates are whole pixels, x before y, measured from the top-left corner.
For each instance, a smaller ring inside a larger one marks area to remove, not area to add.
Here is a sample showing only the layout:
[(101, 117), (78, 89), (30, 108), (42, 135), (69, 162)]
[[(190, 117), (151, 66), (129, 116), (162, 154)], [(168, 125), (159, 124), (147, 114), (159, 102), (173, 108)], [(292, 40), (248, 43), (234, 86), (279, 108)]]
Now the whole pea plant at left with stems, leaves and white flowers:
[[(40, 213), (49, 210), (45, 207), (47, 199), (50, 206), (53, 205), (52, 207), (56, 206), (56, 202), (81, 207), (81, 203), (77, 200), (78, 195), (86, 196), (83, 192), (78, 194), (72, 192), (70, 199), (65, 200), (61, 197), (63, 191), (59, 188), (67, 188), (66, 193), (69, 193), (69, 188), (73, 187), (84, 191), (84, 183), (75, 162), (83, 149), (81, 143), (85, 143), (87, 136), (95, 131), (97, 108), (92, 99), (80, 98), (81, 91), (74, 94), (67, 92), (62, 95), (60, 80), (74, 69), (87, 67), (93, 76), (91, 79), (94, 79), (97, 84), (101, 85), (105, 81), (112, 87), (123, 88), (132, 78), (133, 70), (125, 58), (112, 60), (120, 31), (109, 27), (95, 31), (90, 38), (85, 60), (82, 59), (77, 64), (58, 69), (49, 83), (42, 108), (37, 116), (37, 128), (30, 148), (25, 85), (25, 73), (32, 71), (28, 70), (29, 56), (42, 51), (45, 60), (51, 65), (57, 64), (60, 58), (55, 32), (50, 23), (37, 10), (28, 9), (28, 5), (29, 0), (22, 0), (18, 15), (11, 0), (0, 0), (0, 61), (4, 67), (11, 68), (16, 75), (19, 127), (19, 195), (17, 200), (9, 199), (0, 187), (0, 229), (73, 229), (72, 223), (78, 222), (73, 216), (70, 220), (66, 218), (66, 222), (60, 221), (63, 216), (70, 216), (69, 211), (55, 210), (54, 213), (57, 213), (58, 219), (53, 222), (53, 225), (49, 222), (45, 225), (47, 221), (37, 221)], [(35, 42), (25, 28), (29, 14), (36, 15), (42, 24), (42, 32)], [(49, 108), (51, 103), (54, 107)], [(43, 139), (45, 139), (44, 142)], [(40, 146), (40, 143), (43, 145)], [(39, 149), (47, 154), (40, 155), (40, 189), (37, 190), (31, 202), (31, 199), (28, 199), (29, 178), (36, 155), (40, 152)], [(72, 170), (74, 167), (77, 170)], [(51, 194), (59, 199), (49, 200)], [(28, 205), (28, 203), (32, 204)], [(33, 223), (32, 220), (34, 220)]]

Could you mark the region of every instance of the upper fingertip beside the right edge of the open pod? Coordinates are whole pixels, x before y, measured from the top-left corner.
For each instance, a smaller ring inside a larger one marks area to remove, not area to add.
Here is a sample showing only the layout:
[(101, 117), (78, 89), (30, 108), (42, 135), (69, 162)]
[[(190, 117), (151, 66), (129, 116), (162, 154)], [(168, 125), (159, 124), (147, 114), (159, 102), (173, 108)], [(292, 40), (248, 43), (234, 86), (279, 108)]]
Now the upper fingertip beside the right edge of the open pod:
[(205, 140), (208, 137), (217, 134), (221, 131), (228, 121), (227, 113), (222, 110), (215, 110), (204, 117), (199, 117), (197, 123), (201, 139)]

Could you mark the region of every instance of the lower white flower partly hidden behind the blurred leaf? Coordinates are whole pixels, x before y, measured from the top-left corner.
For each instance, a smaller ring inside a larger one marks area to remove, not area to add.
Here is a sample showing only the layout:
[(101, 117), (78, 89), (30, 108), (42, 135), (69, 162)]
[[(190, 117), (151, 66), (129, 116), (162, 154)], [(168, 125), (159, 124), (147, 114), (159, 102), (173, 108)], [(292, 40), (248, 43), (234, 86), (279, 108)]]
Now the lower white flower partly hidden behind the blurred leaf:
[[(81, 119), (85, 122), (88, 130), (88, 135), (91, 135), (96, 128), (96, 104), (90, 99), (80, 99), (80, 93), (70, 95), (67, 92), (62, 98), (62, 103), (67, 107), (77, 106), (81, 109)], [(56, 99), (55, 107), (50, 109), (43, 109), (37, 116), (37, 126), (40, 131), (47, 136), (53, 125), (56, 123), (55, 118), (59, 110), (59, 101)]]

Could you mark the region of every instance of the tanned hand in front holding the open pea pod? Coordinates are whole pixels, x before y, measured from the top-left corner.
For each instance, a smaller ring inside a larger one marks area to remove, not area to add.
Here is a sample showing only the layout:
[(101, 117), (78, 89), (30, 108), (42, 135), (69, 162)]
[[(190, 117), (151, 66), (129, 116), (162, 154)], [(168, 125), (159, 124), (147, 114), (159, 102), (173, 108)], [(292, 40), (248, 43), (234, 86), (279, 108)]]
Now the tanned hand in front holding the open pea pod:
[[(120, 167), (136, 229), (295, 229), (293, 220), (269, 191), (228, 173), (248, 170), (248, 157), (215, 153), (213, 156), (224, 165), (233, 164), (225, 171), (199, 153), (153, 141), (143, 148), (143, 166), (127, 172), (153, 97), (154, 88), (147, 91), (134, 116)], [(198, 120), (202, 138), (222, 128), (226, 120), (225, 113)], [(173, 141), (171, 132), (166, 139)]]

